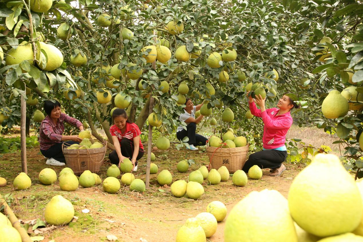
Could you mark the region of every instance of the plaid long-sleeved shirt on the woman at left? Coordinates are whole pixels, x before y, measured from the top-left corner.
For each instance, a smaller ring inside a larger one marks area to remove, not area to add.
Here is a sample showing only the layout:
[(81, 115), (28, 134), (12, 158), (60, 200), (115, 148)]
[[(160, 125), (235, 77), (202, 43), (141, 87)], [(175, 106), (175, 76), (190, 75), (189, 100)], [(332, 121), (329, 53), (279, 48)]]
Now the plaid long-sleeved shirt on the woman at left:
[(59, 117), (57, 124), (55, 124), (47, 115), (40, 124), (39, 143), (41, 150), (46, 151), (53, 145), (61, 143), (62, 134), (64, 132), (64, 122), (77, 128), (83, 125), (79, 120), (76, 120), (64, 113), (61, 113), (61, 117)]

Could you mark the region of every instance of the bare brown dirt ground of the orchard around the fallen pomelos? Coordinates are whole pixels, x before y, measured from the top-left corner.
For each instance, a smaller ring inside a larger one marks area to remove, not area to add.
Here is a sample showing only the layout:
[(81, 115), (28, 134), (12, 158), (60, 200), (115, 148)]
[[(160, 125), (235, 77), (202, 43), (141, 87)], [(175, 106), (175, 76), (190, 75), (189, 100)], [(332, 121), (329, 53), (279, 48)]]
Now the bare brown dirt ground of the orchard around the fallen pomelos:
[[(173, 146), (173, 145), (172, 145)], [(151, 175), (150, 188), (140, 194), (130, 192), (128, 187), (122, 187), (115, 194), (107, 194), (102, 185), (91, 188), (79, 187), (75, 192), (60, 190), (59, 182), (45, 186), (39, 183), (39, 172), (46, 167), (53, 168), (57, 174), (62, 167), (45, 165), (45, 158), (40, 154), (39, 147), (28, 149), (28, 175), (32, 186), (26, 191), (14, 191), (12, 181), (21, 171), (20, 153), (3, 154), (0, 157), (0, 176), (8, 181), (6, 187), (0, 188), (2, 196), (12, 193), (15, 200), (11, 204), (17, 217), (23, 221), (32, 219), (44, 220), (44, 208), (51, 197), (62, 195), (70, 200), (78, 220), (67, 226), (57, 227), (40, 235), (45, 242), (98, 242), (107, 241), (107, 235), (115, 235), (120, 242), (170, 242), (175, 241), (177, 231), (187, 218), (205, 212), (207, 205), (215, 200), (226, 204), (228, 213), (233, 206), (251, 191), (275, 189), (287, 197), (293, 178), (305, 166), (304, 164), (286, 164), (287, 170), (281, 177), (268, 176), (269, 170), (263, 170), (261, 180), (249, 180), (245, 187), (236, 187), (230, 178), (218, 185), (208, 185), (203, 182), (205, 193), (200, 199), (193, 200), (187, 197), (173, 197), (170, 187), (160, 187), (156, 176)], [(168, 151), (156, 151), (156, 161), (159, 172), (168, 169), (173, 175), (173, 181), (187, 180), (188, 174), (202, 165), (208, 165), (209, 160), (205, 151), (177, 151), (170, 148)], [(194, 159), (193, 164), (186, 173), (179, 173), (177, 163), (185, 158)], [(100, 177), (106, 177), (106, 170), (110, 163), (103, 164)], [(146, 155), (140, 160), (136, 178), (145, 181)], [(159, 190), (162, 189), (162, 190)], [(88, 209), (89, 213), (82, 210)], [(228, 215), (227, 215), (228, 216)], [(224, 239), (225, 221), (218, 223), (217, 232), (207, 241), (221, 242)]]

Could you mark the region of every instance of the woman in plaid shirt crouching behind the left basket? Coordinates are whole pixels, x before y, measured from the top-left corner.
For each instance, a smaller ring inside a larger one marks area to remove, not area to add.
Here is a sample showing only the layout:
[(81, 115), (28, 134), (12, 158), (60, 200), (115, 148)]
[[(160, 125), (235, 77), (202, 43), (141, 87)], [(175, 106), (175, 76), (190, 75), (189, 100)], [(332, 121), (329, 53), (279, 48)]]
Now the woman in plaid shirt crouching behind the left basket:
[(62, 144), (78, 144), (82, 139), (78, 136), (64, 136), (64, 122), (83, 130), (83, 124), (67, 114), (61, 113), (61, 104), (58, 101), (46, 100), (44, 110), (47, 116), (40, 124), (40, 151), (48, 158), (47, 165), (65, 166)]

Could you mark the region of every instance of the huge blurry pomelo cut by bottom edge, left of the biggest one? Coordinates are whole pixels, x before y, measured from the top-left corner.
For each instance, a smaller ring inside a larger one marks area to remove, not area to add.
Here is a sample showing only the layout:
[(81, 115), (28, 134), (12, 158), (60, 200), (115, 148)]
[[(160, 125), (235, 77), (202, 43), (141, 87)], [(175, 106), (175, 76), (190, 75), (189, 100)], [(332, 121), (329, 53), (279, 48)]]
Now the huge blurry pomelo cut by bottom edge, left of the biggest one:
[(287, 199), (278, 191), (251, 192), (233, 207), (225, 242), (298, 242)]

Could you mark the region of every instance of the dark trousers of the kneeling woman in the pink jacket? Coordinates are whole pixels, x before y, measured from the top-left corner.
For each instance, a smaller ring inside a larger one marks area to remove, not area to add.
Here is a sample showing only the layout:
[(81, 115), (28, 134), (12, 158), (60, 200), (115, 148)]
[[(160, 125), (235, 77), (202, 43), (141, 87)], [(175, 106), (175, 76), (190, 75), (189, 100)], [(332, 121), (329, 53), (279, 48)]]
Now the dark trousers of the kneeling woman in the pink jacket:
[(287, 151), (258, 151), (248, 157), (248, 160), (244, 164), (242, 170), (247, 173), (254, 165), (259, 166), (261, 169), (278, 168), (286, 160), (286, 157)]

